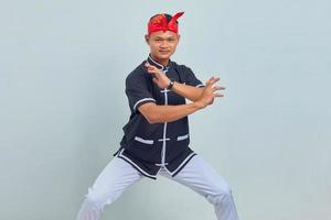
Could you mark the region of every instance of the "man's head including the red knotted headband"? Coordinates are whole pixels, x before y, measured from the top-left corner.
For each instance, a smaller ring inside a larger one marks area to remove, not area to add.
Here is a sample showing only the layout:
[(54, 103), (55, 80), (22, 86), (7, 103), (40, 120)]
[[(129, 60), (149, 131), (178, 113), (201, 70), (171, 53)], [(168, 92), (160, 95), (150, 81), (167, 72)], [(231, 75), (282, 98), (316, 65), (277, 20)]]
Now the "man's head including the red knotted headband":
[(159, 62), (166, 62), (175, 52), (180, 40), (178, 19), (183, 14), (156, 14), (148, 22), (148, 34), (145, 36), (150, 53)]

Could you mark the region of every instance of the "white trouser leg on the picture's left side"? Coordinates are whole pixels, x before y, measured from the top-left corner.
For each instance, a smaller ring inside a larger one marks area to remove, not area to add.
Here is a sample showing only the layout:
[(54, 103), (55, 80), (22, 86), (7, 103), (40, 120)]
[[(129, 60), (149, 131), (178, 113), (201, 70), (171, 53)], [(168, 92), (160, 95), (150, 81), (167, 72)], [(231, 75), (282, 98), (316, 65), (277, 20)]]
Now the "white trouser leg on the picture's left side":
[(76, 220), (98, 220), (106, 205), (115, 201), (127, 187), (141, 178), (130, 164), (114, 157), (88, 188)]

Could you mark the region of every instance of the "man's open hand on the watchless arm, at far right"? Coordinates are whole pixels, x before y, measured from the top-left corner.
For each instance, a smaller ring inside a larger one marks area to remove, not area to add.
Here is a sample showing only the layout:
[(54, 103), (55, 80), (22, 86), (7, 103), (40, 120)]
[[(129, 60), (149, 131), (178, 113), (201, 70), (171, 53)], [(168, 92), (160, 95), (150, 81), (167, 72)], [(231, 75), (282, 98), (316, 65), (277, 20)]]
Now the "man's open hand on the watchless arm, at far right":
[(200, 109), (203, 109), (209, 105), (212, 105), (214, 102), (215, 98), (224, 97), (224, 95), (218, 94), (217, 91), (218, 90), (225, 90), (225, 87), (214, 86), (214, 84), (218, 80), (220, 80), (218, 77), (212, 77), (212, 78), (210, 78), (210, 80), (207, 80), (205, 82), (205, 87), (203, 89), (203, 92), (201, 94), (199, 99), (196, 101), (194, 101), (194, 103)]

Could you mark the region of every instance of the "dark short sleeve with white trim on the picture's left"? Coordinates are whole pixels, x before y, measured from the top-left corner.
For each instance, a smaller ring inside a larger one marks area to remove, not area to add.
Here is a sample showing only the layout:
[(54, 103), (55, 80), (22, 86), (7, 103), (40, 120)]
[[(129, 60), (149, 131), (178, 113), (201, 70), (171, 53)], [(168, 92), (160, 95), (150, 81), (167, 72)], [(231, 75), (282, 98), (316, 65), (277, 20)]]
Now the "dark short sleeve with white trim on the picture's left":
[(156, 102), (148, 89), (148, 79), (142, 74), (131, 73), (126, 79), (126, 95), (132, 112), (147, 102)]

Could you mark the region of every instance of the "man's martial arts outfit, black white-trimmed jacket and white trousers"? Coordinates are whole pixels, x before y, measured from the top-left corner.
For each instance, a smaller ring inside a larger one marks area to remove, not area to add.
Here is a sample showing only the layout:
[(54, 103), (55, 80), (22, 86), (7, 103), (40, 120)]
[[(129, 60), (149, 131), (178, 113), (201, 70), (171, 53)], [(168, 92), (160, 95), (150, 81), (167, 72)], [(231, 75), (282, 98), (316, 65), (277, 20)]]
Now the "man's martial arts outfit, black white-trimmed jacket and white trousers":
[(160, 89), (145, 64), (158, 67), (169, 78), (194, 87), (204, 85), (193, 72), (170, 61), (162, 66), (148, 56), (126, 79), (126, 95), (131, 110), (124, 127), (124, 138), (115, 158), (88, 189), (77, 220), (98, 220), (105, 205), (115, 201), (122, 191), (142, 177), (162, 175), (183, 184), (214, 205), (218, 220), (238, 220), (229, 186), (201, 156), (189, 146), (188, 117), (173, 122), (150, 124), (138, 108), (147, 102), (160, 106), (185, 105), (185, 98)]

